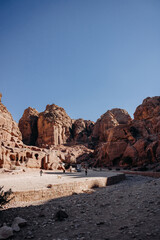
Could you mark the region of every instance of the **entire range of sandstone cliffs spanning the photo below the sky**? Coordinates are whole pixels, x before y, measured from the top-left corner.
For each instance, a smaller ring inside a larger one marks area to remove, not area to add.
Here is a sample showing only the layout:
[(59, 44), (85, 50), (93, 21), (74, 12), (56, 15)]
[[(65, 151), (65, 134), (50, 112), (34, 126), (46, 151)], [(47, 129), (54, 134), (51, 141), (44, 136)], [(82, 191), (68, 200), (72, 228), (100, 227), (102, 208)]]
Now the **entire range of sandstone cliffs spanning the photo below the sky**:
[(0, 167), (57, 169), (62, 162), (88, 162), (144, 168), (160, 162), (160, 97), (146, 98), (133, 120), (115, 108), (96, 123), (73, 120), (55, 104), (41, 113), (29, 107), (19, 128), (0, 102), (0, 142)]

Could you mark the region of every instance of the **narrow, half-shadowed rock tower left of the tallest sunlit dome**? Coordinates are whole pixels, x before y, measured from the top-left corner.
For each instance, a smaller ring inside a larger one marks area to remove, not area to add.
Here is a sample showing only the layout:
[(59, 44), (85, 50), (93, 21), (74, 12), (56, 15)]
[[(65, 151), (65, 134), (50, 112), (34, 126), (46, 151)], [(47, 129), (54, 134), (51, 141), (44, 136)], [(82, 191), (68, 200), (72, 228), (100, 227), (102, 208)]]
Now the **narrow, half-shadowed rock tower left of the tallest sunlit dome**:
[(22, 141), (26, 145), (34, 146), (38, 137), (37, 121), (38, 111), (34, 108), (27, 108), (19, 120), (19, 129), (22, 133)]

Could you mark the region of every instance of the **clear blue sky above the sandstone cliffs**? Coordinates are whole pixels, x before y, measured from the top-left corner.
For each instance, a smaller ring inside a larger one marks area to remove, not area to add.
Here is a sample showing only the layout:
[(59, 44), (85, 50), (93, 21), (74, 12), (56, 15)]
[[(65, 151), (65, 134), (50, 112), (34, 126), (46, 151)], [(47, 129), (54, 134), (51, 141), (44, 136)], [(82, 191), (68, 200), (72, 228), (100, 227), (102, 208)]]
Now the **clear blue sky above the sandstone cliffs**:
[(160, 1), (0, 0), (0, 92), (17, 122), (52, 103), (132, 116), (160, 95)]

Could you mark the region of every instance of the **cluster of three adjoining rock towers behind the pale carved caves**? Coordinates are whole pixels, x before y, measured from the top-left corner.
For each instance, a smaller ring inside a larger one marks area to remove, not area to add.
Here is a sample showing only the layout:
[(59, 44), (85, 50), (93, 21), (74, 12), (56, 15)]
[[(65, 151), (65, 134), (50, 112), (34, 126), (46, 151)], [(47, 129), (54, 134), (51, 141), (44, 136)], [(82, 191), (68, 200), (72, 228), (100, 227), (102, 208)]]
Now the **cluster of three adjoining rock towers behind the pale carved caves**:
[(19, 121), (23, 142), (39, 147), (89, 143), (93, 126), (92, 121), (71, 119), (63, 108), (55, 104), (47, 105), (41, 113), (29, 107)]

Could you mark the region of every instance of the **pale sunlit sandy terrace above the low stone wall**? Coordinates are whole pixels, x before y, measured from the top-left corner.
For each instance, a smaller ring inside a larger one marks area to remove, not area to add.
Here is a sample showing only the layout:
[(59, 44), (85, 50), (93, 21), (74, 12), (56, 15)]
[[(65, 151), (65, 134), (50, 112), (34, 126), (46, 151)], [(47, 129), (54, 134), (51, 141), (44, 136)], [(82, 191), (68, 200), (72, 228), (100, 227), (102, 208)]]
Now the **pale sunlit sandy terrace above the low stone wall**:
[(63, 173), (62, 171), (43, 171), (42, 176), (40, 176), (39, 170), (26, 170), (26, 172), (12, 171), (8, 173), (1, 172), (0, 186), (4, 186), (4, 190), (11, 188), (12, 191), (39, 190), (46, 189), (48, 184), (63, 184), (66, 182), (84, 181), (89, 178), (106, 178), (115, 175), (117, 175), (116, 172), (107, 170), (88, 170), (87, 177), (84, 170), (82, 172), (72, 173)]

